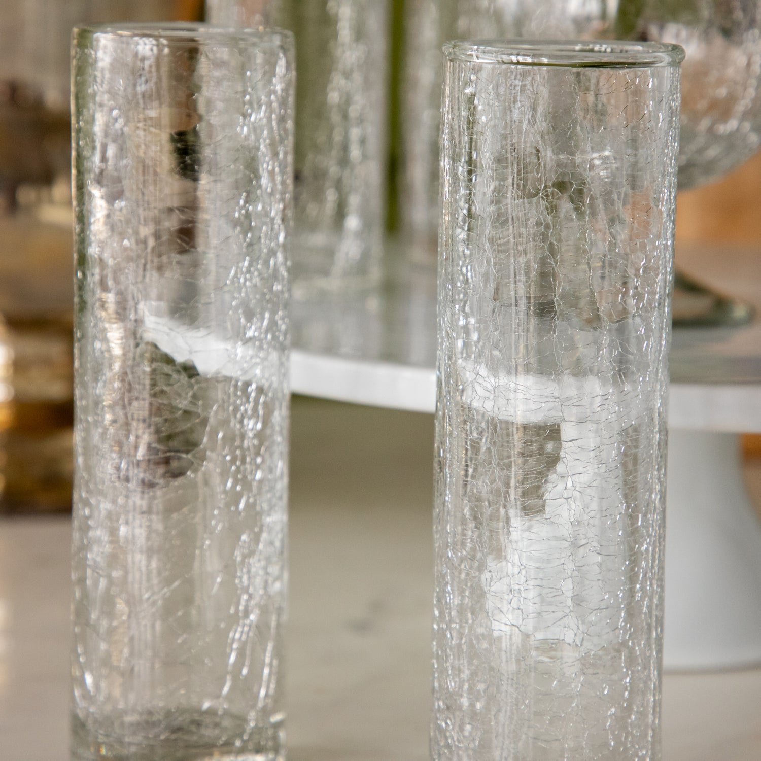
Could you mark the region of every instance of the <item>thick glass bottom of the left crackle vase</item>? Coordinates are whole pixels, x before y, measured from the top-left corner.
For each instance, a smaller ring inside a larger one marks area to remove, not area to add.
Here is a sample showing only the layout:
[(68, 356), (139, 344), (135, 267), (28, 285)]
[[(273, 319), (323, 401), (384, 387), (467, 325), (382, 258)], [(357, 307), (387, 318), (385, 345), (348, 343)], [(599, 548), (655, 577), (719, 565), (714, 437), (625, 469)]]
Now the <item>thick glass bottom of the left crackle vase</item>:
[(251, 728), (243, 716), (188, 710), (99, 724), (72, 719), (71, 761), (285, 761), (282, 718)]

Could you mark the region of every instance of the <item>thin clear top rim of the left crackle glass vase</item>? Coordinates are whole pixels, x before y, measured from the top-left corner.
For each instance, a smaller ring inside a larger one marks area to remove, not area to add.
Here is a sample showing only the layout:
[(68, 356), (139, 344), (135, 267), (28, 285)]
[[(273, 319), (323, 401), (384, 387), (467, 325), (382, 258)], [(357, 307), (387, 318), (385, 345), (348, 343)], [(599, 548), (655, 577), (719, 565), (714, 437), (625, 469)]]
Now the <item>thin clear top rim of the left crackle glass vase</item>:
[(72, 30), (76, 47), (87, 45), (95, 37), (111, 40), (162, 40), (167, 44), (256, 46), (257, 43), (281, 43), (293, 46), (292, 32), (278, 27), (220, 27), (202, 21), (145, 21), (129, 24), (81, 24)]

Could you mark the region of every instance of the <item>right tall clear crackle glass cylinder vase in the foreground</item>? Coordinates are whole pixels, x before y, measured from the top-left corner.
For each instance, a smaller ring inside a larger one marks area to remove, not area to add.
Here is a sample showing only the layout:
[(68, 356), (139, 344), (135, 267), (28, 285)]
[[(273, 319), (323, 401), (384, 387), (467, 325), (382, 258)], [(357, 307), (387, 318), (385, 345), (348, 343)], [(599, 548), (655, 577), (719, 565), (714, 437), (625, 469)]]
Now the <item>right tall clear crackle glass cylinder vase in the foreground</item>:
[(447, 46), (436, 761), (656, 761), (677, 46)]

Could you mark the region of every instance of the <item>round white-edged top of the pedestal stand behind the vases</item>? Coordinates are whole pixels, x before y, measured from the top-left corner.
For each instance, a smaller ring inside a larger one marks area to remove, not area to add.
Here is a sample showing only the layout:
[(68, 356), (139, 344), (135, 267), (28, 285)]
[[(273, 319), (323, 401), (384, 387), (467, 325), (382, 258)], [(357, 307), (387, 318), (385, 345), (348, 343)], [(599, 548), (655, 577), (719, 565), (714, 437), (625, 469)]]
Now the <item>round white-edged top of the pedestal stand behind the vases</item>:
[[(761, 315), (761, 250), (688, 246), (677, 249), (677, 263)], [(293, 390), (433, 412), (435, 312), (435, 262), (410, 265), (399, 244), (388, 244), (378, 288), (293, 305)], [(670, 369), (673, 428), (761, 431), (761, 318), (736, 328), (675, 330)]]

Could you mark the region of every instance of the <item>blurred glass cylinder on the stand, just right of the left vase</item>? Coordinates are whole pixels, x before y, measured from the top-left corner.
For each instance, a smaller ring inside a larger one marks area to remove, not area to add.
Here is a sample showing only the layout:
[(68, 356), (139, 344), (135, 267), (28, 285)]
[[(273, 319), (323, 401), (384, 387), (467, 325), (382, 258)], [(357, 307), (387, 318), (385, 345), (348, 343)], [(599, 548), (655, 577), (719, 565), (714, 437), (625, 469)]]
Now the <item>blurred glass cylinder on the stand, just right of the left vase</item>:
[(373, 285), (386, 212), (388, 0), (211, 0), (207, 15), (295, 33), (295, 295)]

